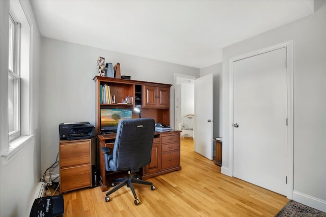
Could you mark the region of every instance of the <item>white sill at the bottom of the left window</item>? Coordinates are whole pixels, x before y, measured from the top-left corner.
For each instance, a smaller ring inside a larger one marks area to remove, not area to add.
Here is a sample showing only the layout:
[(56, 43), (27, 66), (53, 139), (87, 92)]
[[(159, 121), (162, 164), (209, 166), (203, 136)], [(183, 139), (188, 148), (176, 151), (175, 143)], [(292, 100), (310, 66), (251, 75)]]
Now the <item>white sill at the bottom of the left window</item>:
[(28, 145), (33, 140), (33, 138), (34, 135), (27, 135), (27, 136), (20, 136), (17, 139), (11, 141), (9, 143), (11, 148), (1, 153), (1, 156), (5, 160), (5, 165), (8, 164), (8, 162), (11, 161), (11, 159), (14, 158), (14, 156), (16, 155), (16, 153), (19, 152), (19, 150), (21, 150), (23, 147)]

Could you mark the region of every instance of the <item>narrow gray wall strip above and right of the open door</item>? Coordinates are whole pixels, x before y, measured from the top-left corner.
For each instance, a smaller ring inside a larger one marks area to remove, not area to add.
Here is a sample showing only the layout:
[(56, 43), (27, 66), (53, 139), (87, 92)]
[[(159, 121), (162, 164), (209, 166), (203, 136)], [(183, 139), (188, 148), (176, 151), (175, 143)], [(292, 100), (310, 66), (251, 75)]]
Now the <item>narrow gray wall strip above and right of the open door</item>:
[(222, 63), (200, 69), (200, 77), (213, 74), (213, 138), (222, 137)]

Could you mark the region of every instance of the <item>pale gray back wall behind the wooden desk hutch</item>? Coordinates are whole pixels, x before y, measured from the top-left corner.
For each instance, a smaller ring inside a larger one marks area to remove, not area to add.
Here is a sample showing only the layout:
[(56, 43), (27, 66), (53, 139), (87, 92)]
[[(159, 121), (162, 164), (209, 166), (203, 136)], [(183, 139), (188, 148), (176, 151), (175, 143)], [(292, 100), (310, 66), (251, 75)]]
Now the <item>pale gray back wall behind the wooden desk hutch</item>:
[[(153, 59), (42, 38), (41, 152), (42, 171), (55, 162), (59, 151), (59, 123), (90, 121), (95, 124), (97, 58), (120, 63), (121, 75), (132, 80), (174, 84), (174, 73), (199, 76), (199, 69)], [(174, 87), (171, 88), (171, 125), (174, 127)], [(59, 173), (59, 170), (54, 172)]]

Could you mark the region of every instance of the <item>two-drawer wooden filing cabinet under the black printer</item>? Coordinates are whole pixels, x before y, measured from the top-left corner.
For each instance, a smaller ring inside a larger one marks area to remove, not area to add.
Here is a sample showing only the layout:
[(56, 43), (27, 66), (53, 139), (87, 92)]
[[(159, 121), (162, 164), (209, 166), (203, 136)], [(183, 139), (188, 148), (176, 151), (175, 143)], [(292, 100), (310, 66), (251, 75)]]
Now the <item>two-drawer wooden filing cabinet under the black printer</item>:
[(92, 186), (91, 139), (59, 142), (60, 192)]

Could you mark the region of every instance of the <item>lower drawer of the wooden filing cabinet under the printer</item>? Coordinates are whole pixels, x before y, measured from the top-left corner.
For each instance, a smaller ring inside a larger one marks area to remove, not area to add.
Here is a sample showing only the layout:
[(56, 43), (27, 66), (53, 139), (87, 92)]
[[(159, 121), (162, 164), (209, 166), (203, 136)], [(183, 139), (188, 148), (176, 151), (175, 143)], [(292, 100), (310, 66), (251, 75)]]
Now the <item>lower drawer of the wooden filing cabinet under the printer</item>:
[(91, 186), (90, 164), (68, 167), (60, 171), (61, 192)]

